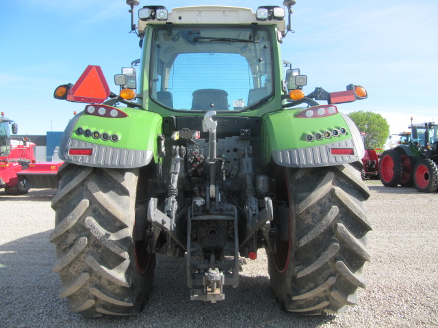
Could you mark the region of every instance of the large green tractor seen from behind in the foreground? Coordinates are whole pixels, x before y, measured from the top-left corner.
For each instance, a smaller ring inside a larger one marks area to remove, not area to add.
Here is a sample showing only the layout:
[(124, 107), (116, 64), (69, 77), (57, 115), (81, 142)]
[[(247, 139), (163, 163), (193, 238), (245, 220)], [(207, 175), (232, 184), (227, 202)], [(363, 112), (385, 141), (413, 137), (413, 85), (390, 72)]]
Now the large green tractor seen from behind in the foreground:
[(185, 257), (190, 299), (215, 303), (238, 286), (239, 258), (263, 248), (284, 310), (357, 303), (370, 194), (361, 135), (335, 104), (367, 94), (305, 96), (307, 77), (280, 53), (294, 3), (145, 6), (131, 18), (141, 59), (114, 77), (120, 94), (99, 66), (55, 90), (92, 102), (64, 131), (52, 202), (53, 271), (71, 311), (140, 312), (156, 254)]

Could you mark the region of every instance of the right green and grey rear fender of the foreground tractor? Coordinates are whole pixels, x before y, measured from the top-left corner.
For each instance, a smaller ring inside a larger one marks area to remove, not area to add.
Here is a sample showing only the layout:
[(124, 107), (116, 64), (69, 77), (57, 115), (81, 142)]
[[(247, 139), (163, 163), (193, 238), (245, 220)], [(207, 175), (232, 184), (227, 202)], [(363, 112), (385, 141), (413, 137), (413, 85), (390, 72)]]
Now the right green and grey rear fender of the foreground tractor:
[[(262, 157), (285, 167), (323, 167), (359, 161), (365, 154), (357, 126), (347, 115), (337, 113), (322, 118), (297, 118), (303, 109), (289, 109), (263, 116)], [(345, 128), (335, 136), (332, 131)], [(306, 135), (330, 136), (306, 141)]]

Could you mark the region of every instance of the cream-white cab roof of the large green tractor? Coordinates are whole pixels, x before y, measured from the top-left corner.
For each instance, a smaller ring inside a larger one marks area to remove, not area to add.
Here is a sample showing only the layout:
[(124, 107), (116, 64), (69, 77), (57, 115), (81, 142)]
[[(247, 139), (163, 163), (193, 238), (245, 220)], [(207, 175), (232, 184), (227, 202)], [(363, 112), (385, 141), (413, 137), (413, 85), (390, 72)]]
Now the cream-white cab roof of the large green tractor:
[[(163, 7), (164, 8), (164, 7)], [(226, 25), (276, 25), (277, 29), (284, 33), (286, 26), (284, 18), (281, 20), (257, 20), (255, 13), (250, 8), (201, 5), (193, 7), (173, 8), (168, 13), (166, 20), (138, 20), (138, 32), (144, 33), (148, 24), (166, 25), (172, 24), (226, 24)]]

